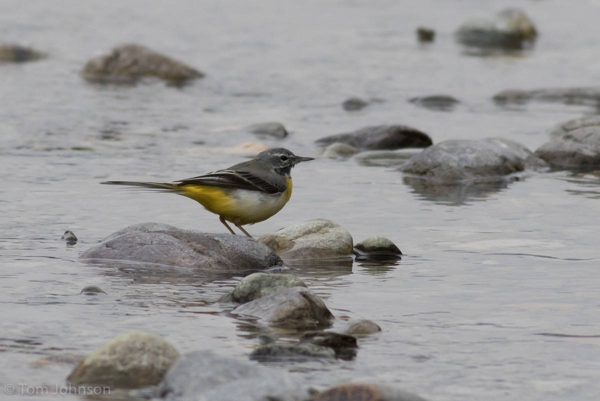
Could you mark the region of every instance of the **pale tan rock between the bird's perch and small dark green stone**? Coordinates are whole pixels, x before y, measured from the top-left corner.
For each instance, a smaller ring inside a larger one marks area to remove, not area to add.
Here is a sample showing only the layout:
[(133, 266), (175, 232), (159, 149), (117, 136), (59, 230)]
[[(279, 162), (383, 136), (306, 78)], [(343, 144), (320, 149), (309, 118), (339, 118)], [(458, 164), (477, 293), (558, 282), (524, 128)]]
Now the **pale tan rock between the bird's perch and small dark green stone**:
[(258, 239), (282, 259), (326, 259), (352, 255), (352, 235), (327, 219), (312, 219)]

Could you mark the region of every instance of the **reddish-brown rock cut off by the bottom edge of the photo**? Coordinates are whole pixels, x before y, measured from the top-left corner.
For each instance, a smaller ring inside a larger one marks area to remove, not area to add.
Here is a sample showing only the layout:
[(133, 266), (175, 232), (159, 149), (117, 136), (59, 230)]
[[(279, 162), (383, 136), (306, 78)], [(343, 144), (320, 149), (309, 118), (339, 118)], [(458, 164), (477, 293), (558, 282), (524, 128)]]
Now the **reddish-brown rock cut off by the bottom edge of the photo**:
[(425, 401), (408, 391), (385, 385), (348, 383), (314, 394), (311, 401)]

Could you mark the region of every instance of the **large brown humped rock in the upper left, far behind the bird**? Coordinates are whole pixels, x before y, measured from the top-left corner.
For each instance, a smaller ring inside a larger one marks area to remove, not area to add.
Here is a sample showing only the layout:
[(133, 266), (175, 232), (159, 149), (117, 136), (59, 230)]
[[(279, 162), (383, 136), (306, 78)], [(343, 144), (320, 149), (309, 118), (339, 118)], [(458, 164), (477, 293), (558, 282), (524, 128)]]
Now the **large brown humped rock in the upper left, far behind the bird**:
[(90, 59), (81, 74), (84, 79), (97, 83), (134, 83), (141, 77), (184, 83), (204, 76), (182, 62), (139, 44), (124, 44), (109, 54)]

